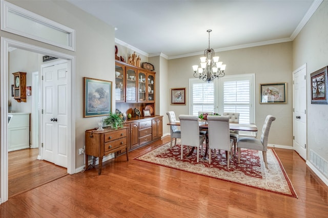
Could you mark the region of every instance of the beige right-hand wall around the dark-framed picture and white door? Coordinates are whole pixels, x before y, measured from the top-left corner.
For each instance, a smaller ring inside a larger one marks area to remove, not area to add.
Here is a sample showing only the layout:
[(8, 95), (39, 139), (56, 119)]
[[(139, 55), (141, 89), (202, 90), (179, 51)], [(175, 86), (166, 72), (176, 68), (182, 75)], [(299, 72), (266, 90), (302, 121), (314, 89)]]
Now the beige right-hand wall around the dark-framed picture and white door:
[[(293, 41), (293, 70), (307, 64), (308, 159), (315, 151), (328, 162), (328, 105), (311, 104), (311, 73), (328, 66), (328, 1), (323, 1)], [(320, 169), (319, 169), (320, 170)], [(325, 168), (325, 170), (327, 170)], [(325, 175), (328, 179), (328, 176)]]

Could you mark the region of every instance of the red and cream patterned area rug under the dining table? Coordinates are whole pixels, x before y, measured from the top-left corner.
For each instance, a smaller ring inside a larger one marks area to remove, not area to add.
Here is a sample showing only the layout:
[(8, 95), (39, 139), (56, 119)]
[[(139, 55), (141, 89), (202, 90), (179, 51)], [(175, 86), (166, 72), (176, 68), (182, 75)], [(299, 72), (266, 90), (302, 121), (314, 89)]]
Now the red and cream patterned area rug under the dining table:
[(196, 149), (191, 156), (186, 157), (187, 146), (183, 146), (183, 154), (181, 160), (181, 145), (177, 144), (170, 149), (169, 142), (136, 157), (135, 160), (297, 198), (293, 185), (273, 149), (267, 151), (269, 169), (264, 166), (262, 152), (257, 150), (241, 149), (240, 164), (238, 164), (238, 158), (234, 157), (230, 160), (229, 169), (225, 151), (221, 151), (216, 157), (212, 151), (211, 164), (209, 164), (208, 158), (204, 160), (201, 155), (199, 163), (197, 163)]

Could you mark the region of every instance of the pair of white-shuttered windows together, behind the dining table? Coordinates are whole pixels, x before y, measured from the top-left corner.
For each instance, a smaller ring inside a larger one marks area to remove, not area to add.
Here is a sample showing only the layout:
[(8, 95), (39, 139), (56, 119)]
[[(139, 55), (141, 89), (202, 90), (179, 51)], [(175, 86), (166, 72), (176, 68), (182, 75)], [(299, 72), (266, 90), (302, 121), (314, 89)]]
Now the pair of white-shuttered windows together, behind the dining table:
[(190, 114), (237, 112), (240, 123), (255, 123), (255, 75), (224, 76), (214, 82), (190, 79)]

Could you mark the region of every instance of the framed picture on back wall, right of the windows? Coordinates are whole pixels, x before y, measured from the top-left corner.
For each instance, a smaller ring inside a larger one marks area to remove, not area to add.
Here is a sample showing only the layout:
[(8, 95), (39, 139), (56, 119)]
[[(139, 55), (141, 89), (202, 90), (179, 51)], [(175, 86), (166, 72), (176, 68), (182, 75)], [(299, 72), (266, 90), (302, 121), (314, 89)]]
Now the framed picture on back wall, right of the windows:
[(260, 84), (260, 104), (285, 104), (287, 83)]

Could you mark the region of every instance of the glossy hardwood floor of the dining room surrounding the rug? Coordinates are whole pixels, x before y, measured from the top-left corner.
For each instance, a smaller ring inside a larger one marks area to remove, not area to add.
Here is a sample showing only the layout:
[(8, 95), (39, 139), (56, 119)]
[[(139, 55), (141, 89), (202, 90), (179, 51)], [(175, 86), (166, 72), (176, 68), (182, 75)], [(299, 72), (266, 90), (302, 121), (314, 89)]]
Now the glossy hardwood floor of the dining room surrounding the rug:
[[(327, 217), (328, 187), (293, 150), (275, 148), (298, 199), (133, 158), (169, 137), (3, 203), (1, 217)], [(270, 166), (269, 166), (270, 167)]]

